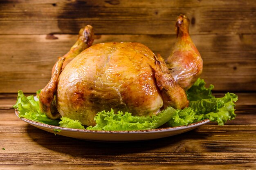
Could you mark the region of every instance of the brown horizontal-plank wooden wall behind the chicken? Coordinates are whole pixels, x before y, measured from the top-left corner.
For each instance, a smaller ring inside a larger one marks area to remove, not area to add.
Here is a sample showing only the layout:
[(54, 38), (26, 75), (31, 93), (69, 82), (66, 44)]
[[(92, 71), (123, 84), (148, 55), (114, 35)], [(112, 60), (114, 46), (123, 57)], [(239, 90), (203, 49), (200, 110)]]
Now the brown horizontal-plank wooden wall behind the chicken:
[(256, 91), (255, 0), (2, 0), (0, 93), (34, 93), (91, 24), (101, 42), (141, 42), (168, 57), (177, 15), (191, 19), (202, 78), (219, 92)]

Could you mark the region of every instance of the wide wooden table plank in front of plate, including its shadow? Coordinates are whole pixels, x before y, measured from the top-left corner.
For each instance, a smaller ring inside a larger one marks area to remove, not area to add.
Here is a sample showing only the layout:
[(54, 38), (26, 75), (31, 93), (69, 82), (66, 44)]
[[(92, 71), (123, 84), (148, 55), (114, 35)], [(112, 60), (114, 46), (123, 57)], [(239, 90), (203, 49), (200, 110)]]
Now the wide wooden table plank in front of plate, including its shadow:
[[(119, 162), (126, 165), (129, 163), (130, 166), (144, 163), (164, 164), (165, 166), (198, 166), (202, 165), (205, 160), (212, 165), (252, 163), (249, 164), (252, 166), (256, 163), (256, 148), (255, 143), (252, 143), (255, 142), (255, 136), (247, 139), (252, 134), (240, 136), (242, 133), (239, 131), (231, 134), (223, 131), (219, 134), (215, 132), (196, 134), (197, 132), (186, 133), (172, 138), (126, 143), (124, 149), (123, 143), (79, 141), (58, 135), (55, 137), (40, 130), (34, 133), (28, 130), (24, 135), (3, 134), (5, 140), (1, 140), (1, 144), (6, 150), (0, 151), (0, 161), (2, 160), (1, 164), (12, 165), (40, 162), (44, 165), (75, 163), (76, 165), (102, 167), (113, 166)], [(224, 139), (223, 134), (227, 135)], [(232, 135), (234, 137), (229, 139)], [(16, 141), (11, 139), (16, 139)], [(206, 152), (202, 151), (204, 149)], [(213, 152), (214, 150), (216, 152)]]

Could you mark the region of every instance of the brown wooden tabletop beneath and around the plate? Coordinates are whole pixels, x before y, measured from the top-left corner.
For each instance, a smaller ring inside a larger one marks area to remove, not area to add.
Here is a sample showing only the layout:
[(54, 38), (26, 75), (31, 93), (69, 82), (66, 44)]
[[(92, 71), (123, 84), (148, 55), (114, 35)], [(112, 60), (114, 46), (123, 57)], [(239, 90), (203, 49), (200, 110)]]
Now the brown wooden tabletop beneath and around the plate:
[(255, 170), (256, 93), (236, 94), (237, 117), (225, 126), (209, 123), (173, 137), (127, 143), (55, 136), (16, 117), (16, 94), (1, 94), (0, 169)]

